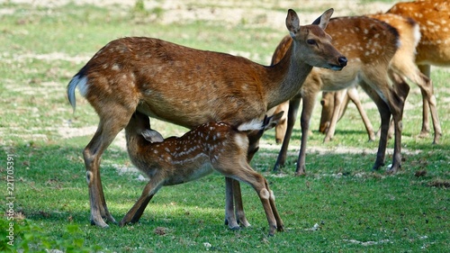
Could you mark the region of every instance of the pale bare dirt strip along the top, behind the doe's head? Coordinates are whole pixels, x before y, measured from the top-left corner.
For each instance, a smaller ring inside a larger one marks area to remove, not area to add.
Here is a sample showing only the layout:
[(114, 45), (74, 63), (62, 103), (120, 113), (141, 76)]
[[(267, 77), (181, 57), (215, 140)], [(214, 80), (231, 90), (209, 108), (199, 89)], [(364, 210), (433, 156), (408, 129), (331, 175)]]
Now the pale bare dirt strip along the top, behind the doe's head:
[[(15, 4), (30, 4), (34, 6), (55, 7), (76, 3), (76, 5), (121, 6), (131, 8), (137, 1), (133, 0), (11, 0)], [(4, 3), (4, 1), (0, 1)], [(171, 1), (144, 1), (145, 9), (151, 11), (158, 9), (157, 20), (160, 23), (186, 23), (198, 20), (220, 22), (221, 25), (236, 25), (237, 23), (255, 23), (258, 26), (269, 26), (284, 29), (284, 19), (287, 9), (298, 12), (301, 23), (311, 23), (323, 11), (334, 8), (334, 16), (372, 14), (385, 12), (392, 5), (386, 3), (361, 4), (359, 1), (215, 1), (215, 0), (171, 0)], [(10, 14), (12, 11), (4, 11)]]

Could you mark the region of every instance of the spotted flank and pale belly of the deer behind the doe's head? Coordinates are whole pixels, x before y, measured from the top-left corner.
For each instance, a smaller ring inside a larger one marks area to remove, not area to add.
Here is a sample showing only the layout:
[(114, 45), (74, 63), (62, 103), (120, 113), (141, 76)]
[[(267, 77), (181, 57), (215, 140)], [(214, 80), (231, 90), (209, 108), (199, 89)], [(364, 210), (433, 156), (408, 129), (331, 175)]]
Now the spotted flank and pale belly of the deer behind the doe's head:
[(347, 56), (347, 67), (337, 72), (313, 68), (302, 87), (304, 94), (346, 88), (358, 76), (383, 75), (400, 45), (399, 33), (391, 25), (365, 16), (331, 19), (327, 32)]

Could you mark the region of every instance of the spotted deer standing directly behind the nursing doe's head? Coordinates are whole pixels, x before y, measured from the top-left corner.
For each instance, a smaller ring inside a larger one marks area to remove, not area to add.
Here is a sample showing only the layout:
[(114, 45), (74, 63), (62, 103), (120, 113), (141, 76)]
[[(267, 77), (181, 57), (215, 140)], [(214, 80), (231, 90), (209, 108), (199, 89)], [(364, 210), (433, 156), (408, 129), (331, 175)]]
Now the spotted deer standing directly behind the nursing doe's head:
[[(302, 144), (295, 171), (297, 175), (305, 174), (306, 141), (316, 95), (320, 90), (340, 90), (357, 83), (374, 100), (382, 118), (381, 138), (373, 169), (379, 169), (384, 164), (387, 134), (392, 115), (395, 122), (395, 144), (390, 171), (396, 172), (401, 167), (403, 106), (410, 90), (410, 86), (404, 84), (392, 86), (388, 78), (389, 64), (399, 45), (399, 34), (389, 24), (365, 16), (334, 18), (329, 21), (327, 32), (333, 37), (335, 46), (346, 52), (348, 65), (337, 73), (320, 68), (312, 69), (298, 95), (289, 102), (288, 129), (274, 170), (284, 165), (301, 99), (303, 99)], [(291, 43), (292, 40), (289, 37), (284, 37), (275, 50), (274, 64), (283, 58), (284, 49)]]

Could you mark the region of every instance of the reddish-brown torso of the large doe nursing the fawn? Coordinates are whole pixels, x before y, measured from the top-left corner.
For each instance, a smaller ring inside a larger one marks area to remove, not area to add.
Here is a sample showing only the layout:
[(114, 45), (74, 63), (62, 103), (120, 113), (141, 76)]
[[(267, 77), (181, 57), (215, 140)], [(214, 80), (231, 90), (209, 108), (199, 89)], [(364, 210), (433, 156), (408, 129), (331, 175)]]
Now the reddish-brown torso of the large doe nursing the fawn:
[(259, 77), (265, 71), (229, 54), (151, 38), (122, 38), (99, 50), (80, 74), (88, 79), (85, 96), (93, 105), (99, 96), (123, 104), (139, 99), (139, 111), (193, 128), (219, 120), (246, 122), (264, 114), (266, 80)]

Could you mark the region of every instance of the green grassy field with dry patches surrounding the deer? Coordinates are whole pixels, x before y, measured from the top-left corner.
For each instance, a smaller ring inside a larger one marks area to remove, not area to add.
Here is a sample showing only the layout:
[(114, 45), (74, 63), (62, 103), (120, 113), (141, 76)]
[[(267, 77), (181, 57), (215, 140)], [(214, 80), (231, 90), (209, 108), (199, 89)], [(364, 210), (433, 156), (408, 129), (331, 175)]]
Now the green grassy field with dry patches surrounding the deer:
[[(263, 149), (252, 167), (270, 182), (284, 219), (286, 231), (275, 237), (267, 237), (263, 208), (247, 185), (243, 185), (243, 198), (252, 226), (233, 231), (223, 224), (224, 180), (217, 174), (161, 189), (139, 224), (124, 228), (112, 225), (107, 230), (90, 225), (81, 152), (98, 118), (79, 94), (76, 113), (67, 103), (66, 86), (78, 69), (105, 43), (123, 36), (156, 37), (268, 64), (286, 34), (287, 7), (307, 16), (308, 22), (332, 7), (326, 1), (313, 2), (305, 1), (305, 6), (288, 6), (289, 1), (279, 5), (255, 3), (263, 14), (247, 2), (233, 2), (239, 10), (251, 9), (253, 13), (225, 20), (186, 17), (196, 10), (202, 14), (199, 10), (205, 8), (212, 15), (220, 15), (221, 10), (237, 14), (237, 10), (229, 10), (233, 3), (196, 1), (189, 4), (184, 16), (167, 14), (158, 5), (0, 4), (0, 193), (5, 213), (0, 218), (0, 251), (448, 251), (450, 74), (445, 68), (433, 68), (432, 72), (444, 136), (438, 145), (431, 145), (431, 136), (417, 137), (421, 97), (419, 89), (412, 86), (404, 113), (404, 160), (397, 175), (371, 172), (377, 141), (367, 142), (363, 122), (351, 105), (338, 123), (335, 139), (326, 144), (316, 131), (320, 105), (316, 106), (308, 176), (293, 176), (300, 146), (299, 125), (294, 129), (288, 164), (279, 174), (271, 169), (280, 146), (275, 144), (274, 131), (266, 132)], [(271, 19), (265, 12), (281, 18)], [(358, 10), (347, 10), (347, 14), (355, 13)], [(159, 22), (163, 17), (165, 21)], [(379, 115), (372, 102), (364, 99), (376, 128)], [(185, 131), (166, 122), (152, 124), (165, 136)], [(124, 148), (121, 134), (102, 161), (103, 189), (116, 220), (128, 212), (145, 185), (132, 169)], [(387, 158), (392, 158), (392, 149)], [(7, 184), (8, 180), (14, 185)], [(14, 216), (9, 216), (12, 213)], [(8, 236), (12, 233), (14, 243), (10, 246)]]

